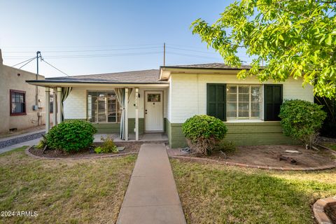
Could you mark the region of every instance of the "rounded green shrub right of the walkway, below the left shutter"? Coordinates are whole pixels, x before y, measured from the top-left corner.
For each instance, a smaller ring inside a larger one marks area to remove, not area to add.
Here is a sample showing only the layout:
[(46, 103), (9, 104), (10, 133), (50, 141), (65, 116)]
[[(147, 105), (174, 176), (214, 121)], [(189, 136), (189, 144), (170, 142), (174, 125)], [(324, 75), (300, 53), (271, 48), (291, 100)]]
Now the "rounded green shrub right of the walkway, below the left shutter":
[(218, 118), (196, 115), (183, 123), (182, 131), (193, 151), (209, 155), (218, 141), (224, 139), (228, 128)]

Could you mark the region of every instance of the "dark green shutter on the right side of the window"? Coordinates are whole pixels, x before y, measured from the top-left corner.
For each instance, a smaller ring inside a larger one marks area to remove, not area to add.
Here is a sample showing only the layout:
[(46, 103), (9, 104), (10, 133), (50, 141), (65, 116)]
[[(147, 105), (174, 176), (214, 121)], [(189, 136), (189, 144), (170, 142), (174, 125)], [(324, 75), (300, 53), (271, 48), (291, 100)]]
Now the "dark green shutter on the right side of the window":
[(264, 120), (280, 120), (282, 84), (264, 85)]

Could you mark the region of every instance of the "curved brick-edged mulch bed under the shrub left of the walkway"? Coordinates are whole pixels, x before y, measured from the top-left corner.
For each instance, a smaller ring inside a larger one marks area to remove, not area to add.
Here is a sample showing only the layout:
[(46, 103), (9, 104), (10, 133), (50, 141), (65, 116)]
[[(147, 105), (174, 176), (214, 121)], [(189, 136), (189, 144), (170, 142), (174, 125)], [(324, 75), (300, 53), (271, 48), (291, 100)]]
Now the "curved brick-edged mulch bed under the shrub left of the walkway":
[[(99, 144), (94, 144), (99, 146)], [(140, 149), (140, 144), (116, 144), (116, 146), (125, 147), (124, 151), (120, 151), (118, 153), (90, 153), (89, 149), (84, 149), (83, 151), (79, 151), (78, 153), (64, 153), (59, 150), (46, 150), (43, 153), (43, 150), (38, 148), (30, 148), (29, 153), (41, 158), (70, 158), (70, 159), (83, 159), (83, 158), (101, 158), (101, 157), (113, 157), (118, 155), (128, 155), (130, 153), (138, 153)]]

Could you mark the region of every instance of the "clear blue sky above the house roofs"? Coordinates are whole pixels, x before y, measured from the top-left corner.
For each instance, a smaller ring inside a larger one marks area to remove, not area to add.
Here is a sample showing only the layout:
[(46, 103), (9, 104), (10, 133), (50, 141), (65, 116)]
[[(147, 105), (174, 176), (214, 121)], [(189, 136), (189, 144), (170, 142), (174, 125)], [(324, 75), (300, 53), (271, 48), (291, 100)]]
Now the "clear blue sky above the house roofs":
[[(230, 2), (0, 1), (0, 48), (9, 66), (40, 50), (46, 62), (71, 76), (158, 69), (164, 42), (166, 65), (223, 62), (191, 33), (190, 24), (197, 18), (216, 21)], [(40, 65), (45, 77), (64, 76)], [(22, 69), (36, 72), (36, 61)]]

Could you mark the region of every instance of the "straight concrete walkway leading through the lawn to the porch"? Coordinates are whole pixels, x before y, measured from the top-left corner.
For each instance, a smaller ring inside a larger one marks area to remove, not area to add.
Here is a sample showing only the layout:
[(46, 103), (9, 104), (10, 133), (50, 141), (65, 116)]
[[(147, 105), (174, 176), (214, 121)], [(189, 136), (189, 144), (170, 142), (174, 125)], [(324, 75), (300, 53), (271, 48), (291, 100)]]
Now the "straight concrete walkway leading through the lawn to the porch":
[(186, 223), (164, 144), (141, 146), (117, 223)]

